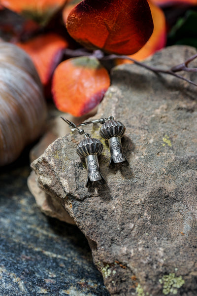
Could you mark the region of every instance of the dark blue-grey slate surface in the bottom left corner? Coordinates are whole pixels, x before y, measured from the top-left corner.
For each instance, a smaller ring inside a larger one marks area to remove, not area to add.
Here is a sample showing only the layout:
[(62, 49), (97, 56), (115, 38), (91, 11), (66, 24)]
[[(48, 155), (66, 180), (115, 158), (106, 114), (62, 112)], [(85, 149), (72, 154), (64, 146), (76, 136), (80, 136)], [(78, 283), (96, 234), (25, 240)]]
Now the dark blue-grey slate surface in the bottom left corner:
[(0, 171), (0, 296), (109, 296), (84, 235), (36, 207), (29, 173)]

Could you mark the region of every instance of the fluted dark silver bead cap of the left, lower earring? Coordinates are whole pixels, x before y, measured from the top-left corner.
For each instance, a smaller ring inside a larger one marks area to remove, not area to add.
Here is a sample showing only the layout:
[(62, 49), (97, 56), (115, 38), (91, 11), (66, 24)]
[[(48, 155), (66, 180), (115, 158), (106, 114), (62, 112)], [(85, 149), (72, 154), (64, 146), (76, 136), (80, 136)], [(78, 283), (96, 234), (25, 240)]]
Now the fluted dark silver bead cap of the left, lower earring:
[(77, 154), (80, 157), (87, 157), (88, 155), (99, 155), (102, 152), (102, 143), (95, 138), (86, 138), (82, 140), (77, 146)]

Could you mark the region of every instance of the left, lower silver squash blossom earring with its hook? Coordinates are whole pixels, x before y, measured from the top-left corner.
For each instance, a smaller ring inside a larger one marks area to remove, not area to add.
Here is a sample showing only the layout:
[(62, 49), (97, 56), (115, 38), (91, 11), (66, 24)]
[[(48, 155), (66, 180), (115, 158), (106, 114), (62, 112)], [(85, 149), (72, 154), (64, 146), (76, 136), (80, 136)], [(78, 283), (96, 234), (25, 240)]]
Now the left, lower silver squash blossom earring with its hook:
[(79, 129), (73, 122), (67, 120), (65, 117), (61, 118), (66, 121), (71, 130), (78, 130), (80, 135), (85, 135), (85, 139), (79, 142), (77, 146), (77, 154), (80, 157), (84, 157), (88, 170), (88, 177), (86, 181), (86, 187), (90, 187), (94, 182), (98, 181), (101, 184), (105, 184), (105, 180), (100, 173), (98, 155), (102, 152), (102, 143), (95, 138), (91, 138), (90, 134), (85, 133), (84, 129)]

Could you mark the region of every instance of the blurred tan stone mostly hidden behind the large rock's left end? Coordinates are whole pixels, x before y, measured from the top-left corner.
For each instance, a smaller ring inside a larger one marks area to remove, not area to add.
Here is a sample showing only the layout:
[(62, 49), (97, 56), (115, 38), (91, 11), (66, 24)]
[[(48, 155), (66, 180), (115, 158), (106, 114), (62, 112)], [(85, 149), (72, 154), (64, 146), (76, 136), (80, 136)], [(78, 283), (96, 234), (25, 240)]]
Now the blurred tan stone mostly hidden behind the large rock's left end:
[[(78, 124), (90, 116), (95, 115), (96, 112), (97, 108), (81, 117), (74, 117), (70, 114), (58, 111), (54, 105), (49, 106), (47, 131), (41, 140), (31, 149), (30, 160), (35, 160), (53, 141), (70, 132), (69, 126), (65, 124), (65, 121), (60, 120), (60, 116), (64, 116), (68, 120)], [(53, 218), (57, 218), (66, 223), (75, 224), (75, 221), (67, 212), (65, 212), (65, 209), (62, 207), (59, 199), (51, 198), (51, 196), (37, 184), (34, 172), (31, 172), (31, 175), (28, 178), (28, 186), (35, 197), (37, 206), (44, 214)]]

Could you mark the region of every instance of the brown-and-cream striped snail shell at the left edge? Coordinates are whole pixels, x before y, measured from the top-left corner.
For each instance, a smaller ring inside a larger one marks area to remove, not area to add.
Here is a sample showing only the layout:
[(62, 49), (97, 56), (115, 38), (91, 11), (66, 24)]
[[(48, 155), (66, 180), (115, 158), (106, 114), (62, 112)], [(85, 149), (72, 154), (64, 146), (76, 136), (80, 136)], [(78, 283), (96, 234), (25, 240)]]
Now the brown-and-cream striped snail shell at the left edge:
[(45, 118), (33, 62), (16, 45), (0, 42), (0, 166), (14, 161), (40, 135)]

